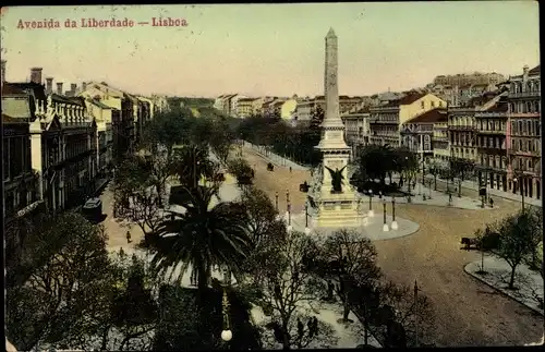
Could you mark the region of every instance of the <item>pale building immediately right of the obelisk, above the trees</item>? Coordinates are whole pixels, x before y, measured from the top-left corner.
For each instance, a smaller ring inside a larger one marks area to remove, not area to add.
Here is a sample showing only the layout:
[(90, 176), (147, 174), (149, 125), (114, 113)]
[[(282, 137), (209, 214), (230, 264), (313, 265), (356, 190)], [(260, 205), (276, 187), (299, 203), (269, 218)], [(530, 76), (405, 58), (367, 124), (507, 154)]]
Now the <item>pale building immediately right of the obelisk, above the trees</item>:
[(363, 147), (370, 143), (370, 117), (368, 107), (341, 116), (342, 122), (344, 122), (344, 141), (352, 148), (352, 159), (359, 158)]

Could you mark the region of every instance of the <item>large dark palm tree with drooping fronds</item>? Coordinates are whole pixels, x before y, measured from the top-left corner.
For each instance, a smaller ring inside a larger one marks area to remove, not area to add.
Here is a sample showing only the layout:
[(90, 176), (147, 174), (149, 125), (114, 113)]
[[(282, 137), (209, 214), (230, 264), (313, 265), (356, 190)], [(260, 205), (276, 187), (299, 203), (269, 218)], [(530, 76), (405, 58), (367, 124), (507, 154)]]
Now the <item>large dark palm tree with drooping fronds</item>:
[[(149, 238), (155, 253), (153, 265), (158, 274), (171, 268), (170, 277), (181, 281), (191, 265), (197, 272), (197, 288), (207, 291), (211, 267), (228, 267), (235, 277), (253, 245), (243, 207), (238, 203), (222, 202), (210, 206), (218, 187), (197, 186), (190, 192), (180, 219), (167, 221), (157, 234)], [(167, 235), (169, 234), (169, 235)], [(179, 274), (174, 268), (181, 265)]]

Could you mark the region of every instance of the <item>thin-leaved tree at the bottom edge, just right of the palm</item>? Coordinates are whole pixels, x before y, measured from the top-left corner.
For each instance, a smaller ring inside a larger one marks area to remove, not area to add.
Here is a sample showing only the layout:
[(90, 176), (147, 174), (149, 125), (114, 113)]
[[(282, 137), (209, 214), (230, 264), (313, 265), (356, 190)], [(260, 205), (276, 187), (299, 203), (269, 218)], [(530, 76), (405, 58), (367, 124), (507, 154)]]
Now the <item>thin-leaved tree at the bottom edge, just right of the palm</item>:
[(266, 272), (258, 282), (251, 276), (244, 284), (256, 287), (259, 292), (257, 303), (266, 314), (271, 315), (269, 327), (275, 329), (276, 340), (284, 349), (290, 349), (296, 345), (298, 337), (301, 336), (298, 331), (298, 315), (304, 314), (308, 306), (319, 300), (323, 281), (304, 270), (304, 259), (317, 254), (316, 243), (311, 236), (300, 232), (290, 233), (277, 246), (277, 254), (276, 270)]

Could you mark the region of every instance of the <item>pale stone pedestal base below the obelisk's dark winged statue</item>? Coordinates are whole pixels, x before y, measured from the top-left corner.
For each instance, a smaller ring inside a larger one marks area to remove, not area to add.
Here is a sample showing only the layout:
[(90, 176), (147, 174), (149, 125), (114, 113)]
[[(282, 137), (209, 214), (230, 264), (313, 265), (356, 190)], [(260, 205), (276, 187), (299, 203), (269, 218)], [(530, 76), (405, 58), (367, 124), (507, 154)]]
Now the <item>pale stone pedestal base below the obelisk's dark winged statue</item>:
[(364, 215), (358, 213), (358, 199), (353, 192), (323, 192), (316, 219), (318, 228), (359, 227)]

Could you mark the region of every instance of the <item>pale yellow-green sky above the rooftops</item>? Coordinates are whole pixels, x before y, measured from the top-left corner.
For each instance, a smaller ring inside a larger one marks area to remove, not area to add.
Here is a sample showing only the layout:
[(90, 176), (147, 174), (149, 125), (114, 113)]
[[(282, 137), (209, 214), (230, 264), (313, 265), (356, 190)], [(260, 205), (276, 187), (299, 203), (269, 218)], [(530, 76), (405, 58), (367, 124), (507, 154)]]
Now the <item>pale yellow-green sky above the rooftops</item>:
[[(64, 28), (68, 17), (185, 19), (187, 27)], [(17, 29), (55, 19), (58, 29)], [(25, 7), (2, 9), (8, 81), (31, 66), (70, 83), (184, 96), (324, 93), (324, 37), (339, 37), (339, 94), (424, 86), (438, 74), (520, 74), (540, 60), (535, 1)]]

